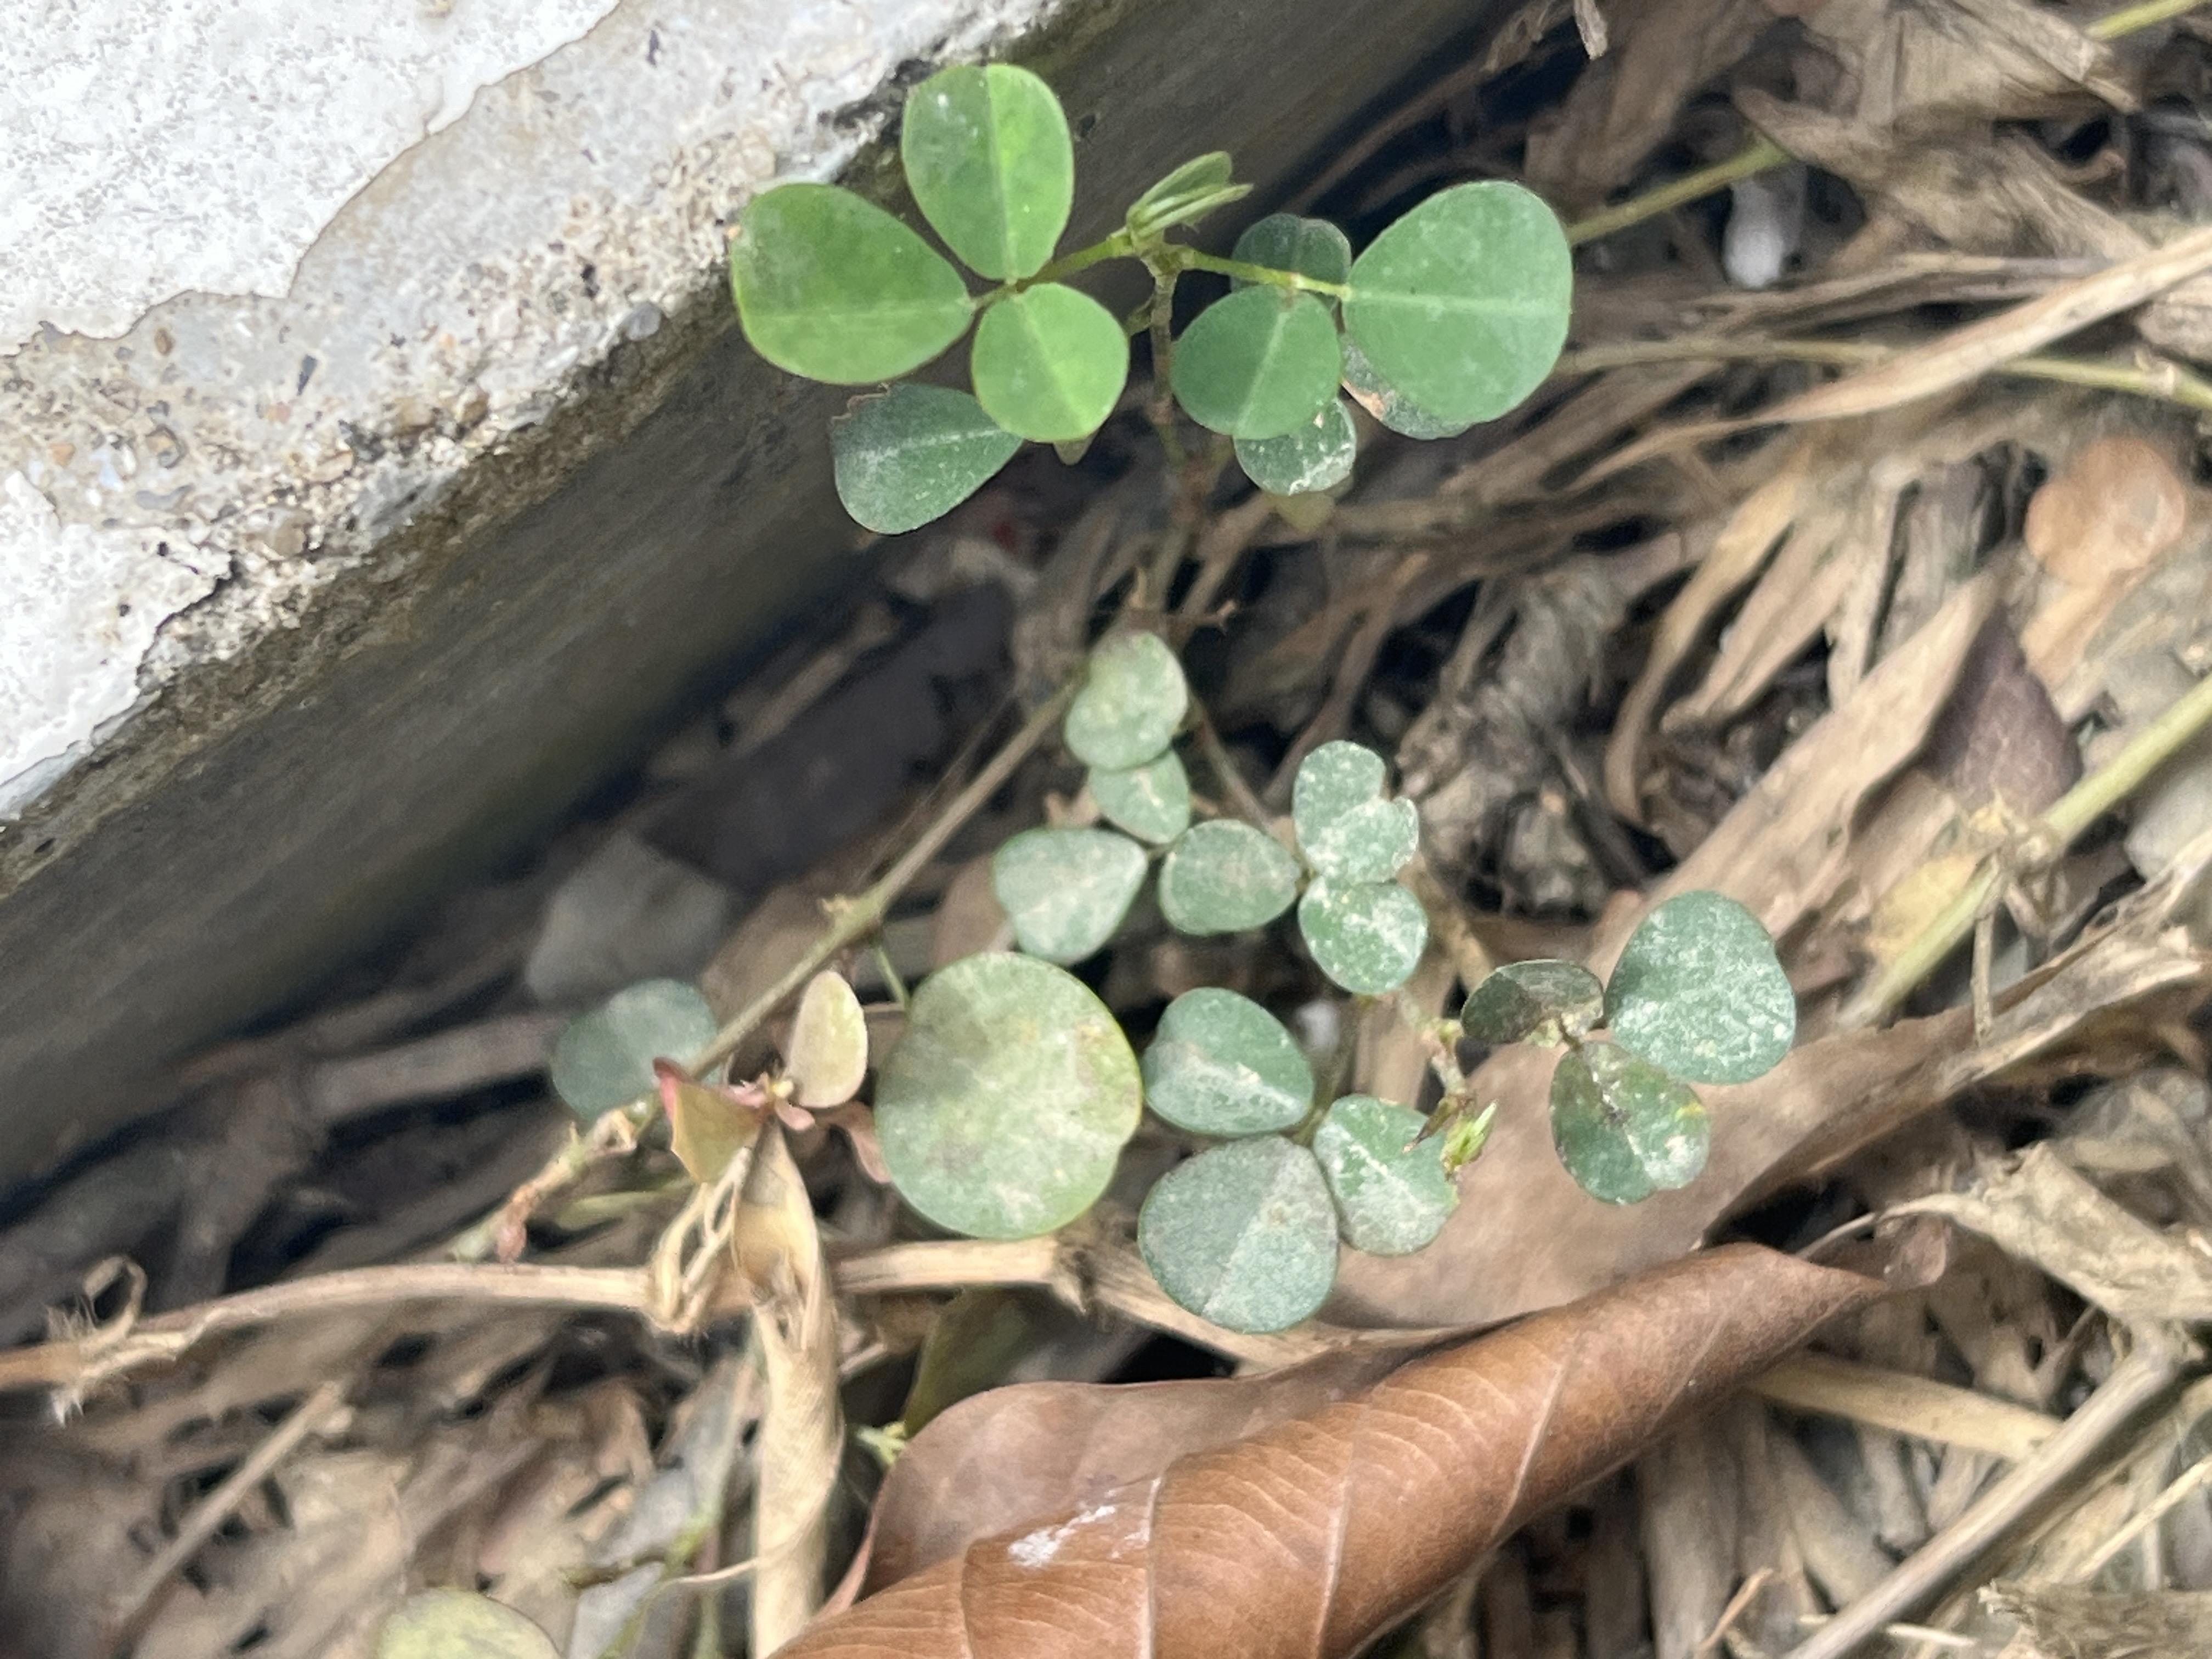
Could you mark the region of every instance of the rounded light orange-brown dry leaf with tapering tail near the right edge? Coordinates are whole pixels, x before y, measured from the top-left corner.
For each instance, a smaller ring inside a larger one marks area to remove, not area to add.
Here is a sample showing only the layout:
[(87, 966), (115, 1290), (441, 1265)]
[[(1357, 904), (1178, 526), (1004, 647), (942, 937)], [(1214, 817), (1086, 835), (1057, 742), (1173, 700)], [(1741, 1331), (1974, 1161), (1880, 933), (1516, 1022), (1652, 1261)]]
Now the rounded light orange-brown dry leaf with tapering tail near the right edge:
[(2079, 666), (2104, 619), (2188, 531), (2190, 495), (2148, 438), (2095, 438), (2028, 502), (2022, 538), (2057, 580), (2022, 630), (2051, 688)]

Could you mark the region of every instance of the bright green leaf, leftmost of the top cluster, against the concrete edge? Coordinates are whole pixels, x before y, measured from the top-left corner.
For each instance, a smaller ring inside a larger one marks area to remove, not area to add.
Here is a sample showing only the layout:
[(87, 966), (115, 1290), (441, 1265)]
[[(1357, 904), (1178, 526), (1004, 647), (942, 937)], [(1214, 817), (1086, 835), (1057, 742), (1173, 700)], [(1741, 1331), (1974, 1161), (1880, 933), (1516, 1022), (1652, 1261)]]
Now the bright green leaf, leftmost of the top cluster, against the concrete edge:
[(752, 199), (730, 241), (730, 292), (754, 352), (832, 385), (922, 367), (973, 312), (942, 254), (834, 184), (779, 184)]

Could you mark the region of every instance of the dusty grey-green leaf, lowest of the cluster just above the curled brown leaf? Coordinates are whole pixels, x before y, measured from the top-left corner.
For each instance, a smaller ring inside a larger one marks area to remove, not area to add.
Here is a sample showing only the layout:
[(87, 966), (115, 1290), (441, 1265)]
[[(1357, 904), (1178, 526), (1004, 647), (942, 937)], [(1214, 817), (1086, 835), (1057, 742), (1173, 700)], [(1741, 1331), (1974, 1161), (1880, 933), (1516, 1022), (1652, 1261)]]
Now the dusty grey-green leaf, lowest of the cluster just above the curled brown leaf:
[(1279, 1332), (1336, 1283), (1336, 1212), (1321, 1166), (1279, 1135), (1230, 1141), (1168, 1170), (1137, 1214), (1152, 1279), (1199, 1318)]

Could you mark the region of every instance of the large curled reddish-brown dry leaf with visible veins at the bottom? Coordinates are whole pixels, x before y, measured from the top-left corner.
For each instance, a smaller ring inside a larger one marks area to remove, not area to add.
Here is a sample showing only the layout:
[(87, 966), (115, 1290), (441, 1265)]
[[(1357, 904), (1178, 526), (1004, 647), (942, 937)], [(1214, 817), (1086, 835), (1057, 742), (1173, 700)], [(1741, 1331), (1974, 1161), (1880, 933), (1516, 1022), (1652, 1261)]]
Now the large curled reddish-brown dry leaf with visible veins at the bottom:
[(1690, 1256), (975, 1542), (785, 1657), (1352, 1655), (1528, 1515), (1878, 1294), (1752, 1245)]

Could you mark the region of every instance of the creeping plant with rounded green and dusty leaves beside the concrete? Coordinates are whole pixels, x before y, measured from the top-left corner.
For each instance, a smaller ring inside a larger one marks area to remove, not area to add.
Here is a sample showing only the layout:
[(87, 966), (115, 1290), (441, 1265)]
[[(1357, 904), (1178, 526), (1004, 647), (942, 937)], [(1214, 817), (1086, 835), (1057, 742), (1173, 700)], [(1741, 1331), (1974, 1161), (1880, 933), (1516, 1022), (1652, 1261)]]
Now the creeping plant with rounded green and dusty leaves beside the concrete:
[[(1057, 254), (1075, 181), (1068, 126), (1044, 82), (1004, 64), (922, 82), (900, 157), (931, 230), (991, 288), (973, 292), (916, 230), (825, 184), (763, 192), (730, 243), (739, 319), (765, 358), (838, 385), (896, 380), (856, 398), (830, 434), (838, 493), (876, 531), (942, 515), (1024, 440), (1086, 440), (1121, 400), (1133, 334), (1150, 334), (1155, 376), (1183, 414), (1232, 438), (1252, 482), (1279, 495), (1352, 471), (1338, 389), (1398, 431), (1447, 436), (1526, 398), (1566, 336), (1566, 239), (1513, 184), (1442, 190), (1358, 257), (1334, 226), (1276, 215), (1217, 259), (1168, 239), (1245, 195), (1225, 155), (1203, 155), (1146, 190), (1104, 241)], [(1152, 274), (1152, 299), (1128, 321), (1066, 283), (1104, 259)], [(1234, 288), (1170, 338), (1175, 283), (1192, 270)], [(973, 394), (898, 380), (971, 327)], [(1159, 405), (1155, 420), (1172, 442)], [(1422, 1022), (1444, 1084), (1431, 1115), (1327, 1099), (1290, 1031), (1217, 987), (1170, 1002), (1139, 1060), (1068, 964), (1115, 936), (1148, 878), (1183, 933), (1274, 927), (1296, 909), (1314, 967), (1360, 1000), (1391, 998), (1429, 938), (1422, 902), (1398, 883), (1420, 816), (1389, 796), (1380, 754), (1356, 743), (1307, 754), (1287, 825), (1194, 821), (1175, 748), (1192, 719), (1168, 641), (1108, 633), (1062, 726), (1104, 823), (1026, 830), (991, 860), (1020, 949), (951, 962), (916, 989), (878, 1066), (872, 1124), (852, 1104), (867, 1033), (843, 982), (807, 991), (781, 1075), (714, 1095), (661, 1062), (686, 1168), (710, 1179), (765, 1113), (830, 1110), (922, 1217), (1020, 1239), (1082, 1217), (1150, 1108), (1201, 1150), (1146, 1197), (1144, 1261), (1183, 1307), (1270, 1332), (1321, 1307), (1340, 1243), (1409, 1254), (1451, 1217), (1451, 1177), (1480, 1155), (1495, 1113), (1458, 1071), (1462, 1037), (1564, 1051), (1553, 1144), (1608, 1203), (1679, 1188), (1705, 1166), (1710, 1128), (1690, 1084), (1745, 1082), (1787, 1053), (1796, 1002), (1774, 942), (1741, 905), (1686, 891), (1652, 909), (1606, 982), (1573, 962), (1511, 962), (1473, 987), (1458, 1020)], [(595, 1115), (653, 1088), (659, 1055), (697, 1051), (712, 1031), (690, 987), (630, 987), (566, 1031), (555, 1088)]]

